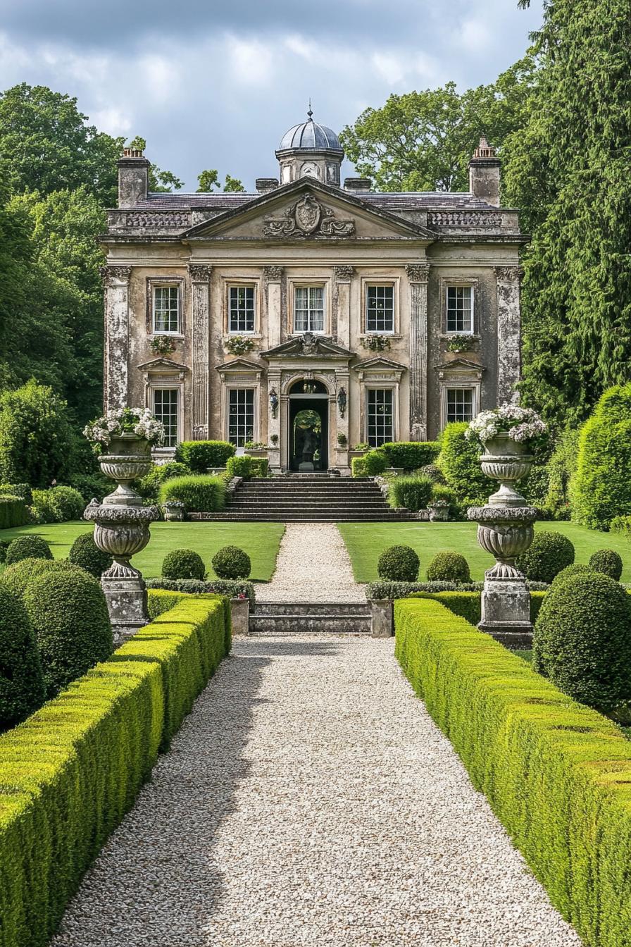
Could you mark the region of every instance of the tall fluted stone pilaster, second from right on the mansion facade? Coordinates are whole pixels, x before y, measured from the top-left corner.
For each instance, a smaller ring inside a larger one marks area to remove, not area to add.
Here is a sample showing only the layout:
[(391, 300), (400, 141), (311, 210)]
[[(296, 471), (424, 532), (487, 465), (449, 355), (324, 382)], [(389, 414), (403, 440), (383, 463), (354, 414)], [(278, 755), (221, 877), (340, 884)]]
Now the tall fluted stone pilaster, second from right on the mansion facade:
[(410, 281), (410, 439), (428, 439), (428, 279), (429, 263), (409, 263)]

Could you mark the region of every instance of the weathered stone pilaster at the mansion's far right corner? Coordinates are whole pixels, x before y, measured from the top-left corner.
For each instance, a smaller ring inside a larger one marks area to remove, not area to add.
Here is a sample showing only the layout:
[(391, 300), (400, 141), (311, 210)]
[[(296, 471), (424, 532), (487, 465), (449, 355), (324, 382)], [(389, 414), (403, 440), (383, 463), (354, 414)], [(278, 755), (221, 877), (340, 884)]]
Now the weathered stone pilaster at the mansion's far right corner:
[(498, 280), (498, 404), (518, 402), (521, 377), (521, 315), (518, 266), (496, 266)]

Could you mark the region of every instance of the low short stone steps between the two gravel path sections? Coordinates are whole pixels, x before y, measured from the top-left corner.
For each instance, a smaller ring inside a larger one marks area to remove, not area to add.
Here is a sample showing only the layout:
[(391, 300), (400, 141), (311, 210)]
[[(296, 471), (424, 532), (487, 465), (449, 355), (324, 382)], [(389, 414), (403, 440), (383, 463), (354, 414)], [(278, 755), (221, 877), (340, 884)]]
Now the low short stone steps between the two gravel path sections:
[(257, 601), (248, 634), (371, 634), (368, 602)]

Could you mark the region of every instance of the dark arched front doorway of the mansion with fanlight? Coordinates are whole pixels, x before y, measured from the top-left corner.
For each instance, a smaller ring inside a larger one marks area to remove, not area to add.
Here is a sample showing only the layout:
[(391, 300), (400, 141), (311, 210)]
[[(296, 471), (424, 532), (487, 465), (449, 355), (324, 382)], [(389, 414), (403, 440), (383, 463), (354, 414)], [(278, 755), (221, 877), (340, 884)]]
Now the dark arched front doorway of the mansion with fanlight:
[(289, 470), (328, 470), (328, 392), (322, 382), (289, 388)]

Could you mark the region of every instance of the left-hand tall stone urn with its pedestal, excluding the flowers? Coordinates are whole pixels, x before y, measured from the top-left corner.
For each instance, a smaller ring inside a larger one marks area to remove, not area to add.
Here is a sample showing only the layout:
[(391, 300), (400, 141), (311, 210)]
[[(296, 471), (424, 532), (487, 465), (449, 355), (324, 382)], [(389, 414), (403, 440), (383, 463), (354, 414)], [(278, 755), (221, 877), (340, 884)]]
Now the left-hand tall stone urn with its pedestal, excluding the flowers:
[(110, 453), (99, 457), (101, 470), (116, 481), (116, 489), (102, 503), (93, 500), (83, 513), (95, 524), (95, 543), (113, 557), (101, 576), (114, 641), (119, 643), (149, 621), (147, 588), (131, 557), (149, 543), (149, 524), (160, 518), (157, 507), (144, 507), (131, 482), (149, 472), (151, 445), (146, 438), (123, 434), (112, 438)]

